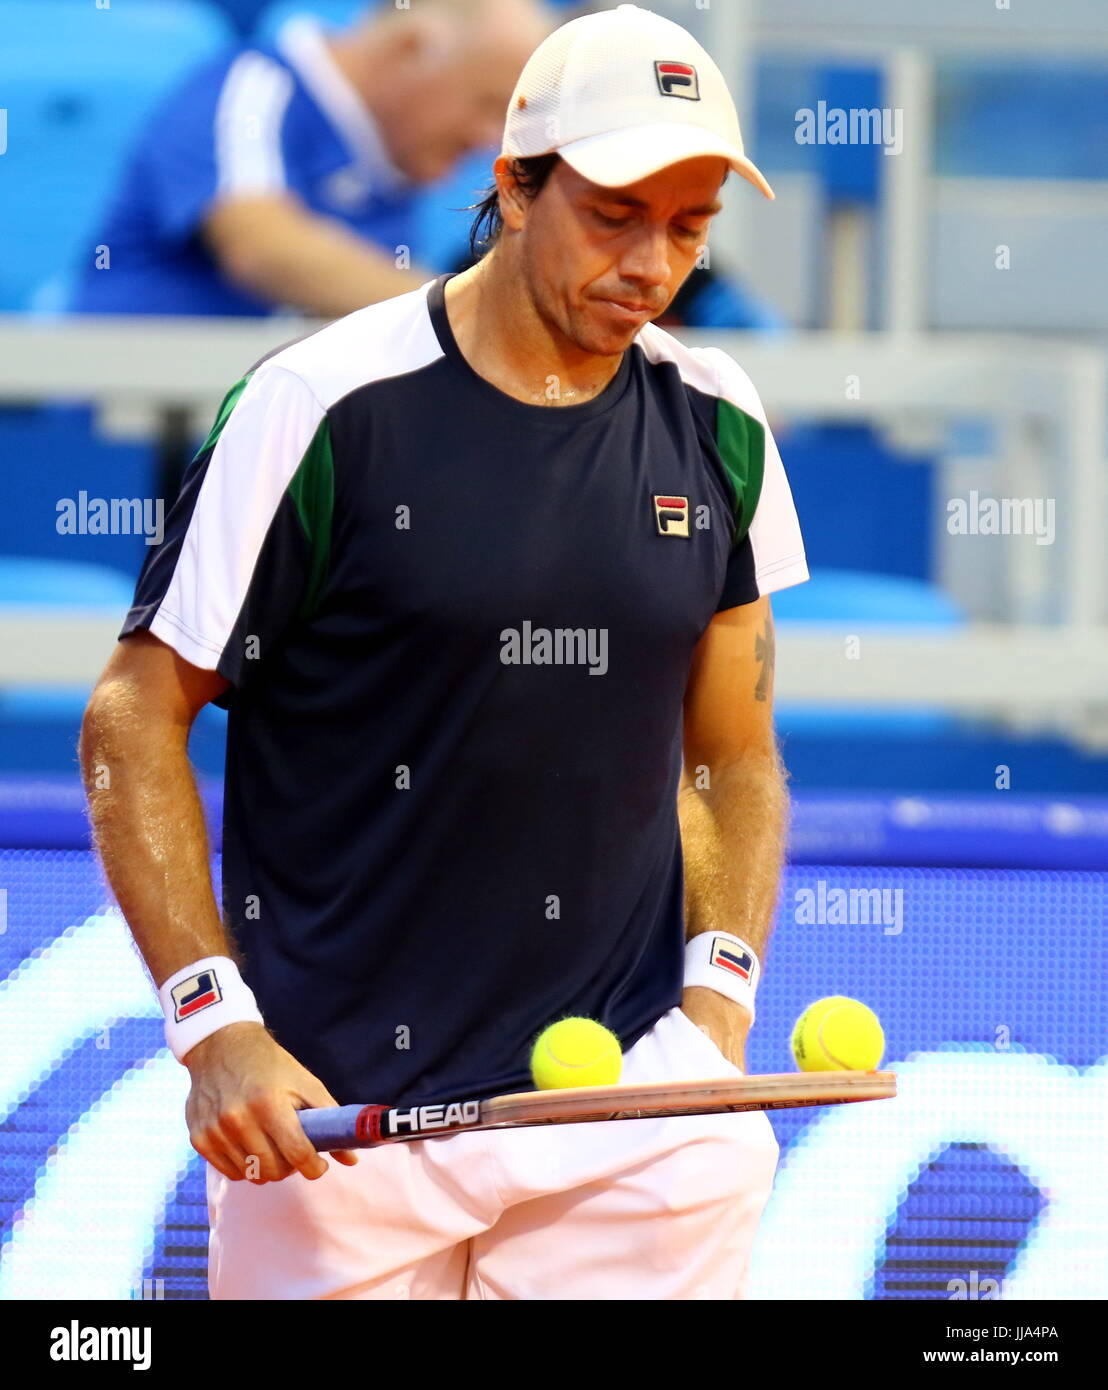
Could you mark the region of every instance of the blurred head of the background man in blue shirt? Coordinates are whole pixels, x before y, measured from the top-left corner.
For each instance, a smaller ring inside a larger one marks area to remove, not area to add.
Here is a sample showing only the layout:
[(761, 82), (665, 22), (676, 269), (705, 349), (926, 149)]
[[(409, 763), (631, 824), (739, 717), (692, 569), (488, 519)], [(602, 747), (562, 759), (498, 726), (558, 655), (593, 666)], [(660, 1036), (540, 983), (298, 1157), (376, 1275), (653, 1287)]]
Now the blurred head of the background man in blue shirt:
[(393, 163), (431, 182), (498, 145), (523, 65), (555, 26), (539, 0), (384, 4), (332, 42)]

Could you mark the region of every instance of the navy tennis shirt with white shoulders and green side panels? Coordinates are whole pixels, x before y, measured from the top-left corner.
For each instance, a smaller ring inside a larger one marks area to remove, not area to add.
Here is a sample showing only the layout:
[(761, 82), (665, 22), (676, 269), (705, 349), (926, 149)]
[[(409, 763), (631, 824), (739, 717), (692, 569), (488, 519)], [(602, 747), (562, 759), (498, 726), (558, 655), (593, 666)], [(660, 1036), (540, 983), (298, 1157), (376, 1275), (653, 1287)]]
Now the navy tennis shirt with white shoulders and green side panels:
[(234, 388), (122, 630), (231, 682), (225, 920), (343, 1104), (530, 1088), (555, 1019), (627, 1048), (680, 1004), (690, 660), (808, 573), (730, 357), (646, 325), (595, 399), (526, 404), (448, 279)]

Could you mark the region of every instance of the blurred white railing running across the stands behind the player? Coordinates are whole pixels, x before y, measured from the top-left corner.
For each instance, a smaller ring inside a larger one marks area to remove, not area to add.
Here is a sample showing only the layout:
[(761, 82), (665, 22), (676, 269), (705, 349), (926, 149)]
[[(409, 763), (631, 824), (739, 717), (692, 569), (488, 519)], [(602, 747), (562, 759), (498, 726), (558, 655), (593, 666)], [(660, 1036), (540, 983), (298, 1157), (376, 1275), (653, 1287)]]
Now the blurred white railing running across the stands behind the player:
[[(0, 316), (0, 403), (88, 400), (101, 428), (146, 436), (157, 436), (174, 413), (179, 428), (184, 413), (199, 438), (227, 388), (306, 327), (299, 320)], [(1108, 744), (1104, 353), (990, 335), (684, 336), (731, 353), (783, 427), (790, 420), (866, 421), (894, 438), (922, 438), (941, 457), (951, 423), (990, 421), (1004, 446), (998, 492), (1023, 496), (1030, 480), (1037, 495), (1057, 503), (1052, 546), (1004, 546), (1005, 621), (954, 631), (791, 626), (779, 644), (781, 699), (929, 705)], [(787, 461), (787, 428), (780, 432)], [(805, 524), (810, 530), (819, 518)], [(930, 523), (890, 516), (874, 524)], [(956, 546), (961, 538), (943, 543)], [(100, 617), (43, 619), (8, 609), (0, 620), (0, 682), (86, 681), (103, 664), (114, 631)]]

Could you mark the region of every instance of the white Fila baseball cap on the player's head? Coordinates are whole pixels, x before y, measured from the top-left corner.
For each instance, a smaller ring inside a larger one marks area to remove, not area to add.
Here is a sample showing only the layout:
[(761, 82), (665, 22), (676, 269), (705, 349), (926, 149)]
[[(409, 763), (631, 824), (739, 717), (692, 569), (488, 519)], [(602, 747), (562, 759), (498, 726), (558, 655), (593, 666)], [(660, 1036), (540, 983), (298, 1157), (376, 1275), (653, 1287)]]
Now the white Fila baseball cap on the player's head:
[(634, 4), (563, 24), (527, 60), (502, 153), (555, 152), (603, 188), (719, 154), (773, 197), (742, 150), (735, 104), (708, 51), (680, 24)]

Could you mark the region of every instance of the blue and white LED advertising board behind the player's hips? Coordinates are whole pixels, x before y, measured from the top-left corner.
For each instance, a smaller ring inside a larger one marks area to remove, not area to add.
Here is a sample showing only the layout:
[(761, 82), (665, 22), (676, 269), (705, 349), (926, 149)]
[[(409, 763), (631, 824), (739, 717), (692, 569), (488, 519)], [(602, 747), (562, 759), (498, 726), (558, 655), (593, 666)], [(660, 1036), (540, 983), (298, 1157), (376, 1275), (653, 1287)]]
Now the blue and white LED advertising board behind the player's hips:
[[(748, 1065), (790, 1070), (797, 1016), (847, 994), (880, 1016), (901, 1094), (773, 1116), (781, 1165), (749, 1295), (1104, 1298), (1100, 851), (1086, 845), (1091, 869), (1070, 848), (1062, 867), (1018, 867), (1013, 835), (1023, 863), (1059, 856), (1043, 848), (1048, 827), (1032, 835), (1027, 816), (1005, 809), (1008, 828), (994, 824), (993, 849), (981, 840), (977, 852), (995, 866), (965, 863), (956, 845), (944, 851), (954, 865), (911, 862), (886, 833), (897, 815), (929, 834), (961, 824), (956, 842), (970, 821), (984, 834), (980, 815), (866, 805), (854, 817), (845, 798), (830, 813), (798, 809), (795, 859), (806, 858), (802, 823), (826, 858), (787, 870)], [(1102, 813), (1052, 815), (1069, 847)], [(1029, 815), (1050, 821), (1043, 808)], [(829, 840), (833, 821), (848, 842), (870, 826), (869, 863), (831, 862), (844, 848)], [(47, 844), (64, 840), (36, 824)], [(881, 862), (897, 853), (909, 862)], [(0, 849), (0, 1297), (206, 1297), (186, 1087), (92, 853)]]

